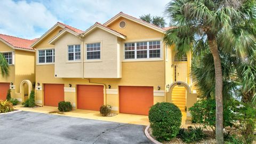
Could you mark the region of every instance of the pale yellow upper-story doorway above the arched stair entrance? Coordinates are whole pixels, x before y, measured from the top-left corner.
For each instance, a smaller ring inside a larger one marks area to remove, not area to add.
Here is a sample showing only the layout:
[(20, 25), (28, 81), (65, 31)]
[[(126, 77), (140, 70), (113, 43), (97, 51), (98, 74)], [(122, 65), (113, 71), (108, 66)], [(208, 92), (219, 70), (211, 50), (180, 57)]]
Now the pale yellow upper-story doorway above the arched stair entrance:
[(188, 83), (188, 58), (187, 54), (181, 55), (181, 57), (178, 57), (178, 54), (176, 53), (174, 56), (174, 62), (173, 62), (173, 76), (174, 76), (174, 82), (182, 81), (185, 83)]

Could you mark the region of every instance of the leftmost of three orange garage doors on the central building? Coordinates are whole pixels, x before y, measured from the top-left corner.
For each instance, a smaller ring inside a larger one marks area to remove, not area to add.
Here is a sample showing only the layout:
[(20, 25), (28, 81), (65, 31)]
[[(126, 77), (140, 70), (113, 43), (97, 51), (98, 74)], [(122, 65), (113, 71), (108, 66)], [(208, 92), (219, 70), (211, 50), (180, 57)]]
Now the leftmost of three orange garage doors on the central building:
[(58, 107), (64, 101), (64, 84), (44, 84), (44, 105)]

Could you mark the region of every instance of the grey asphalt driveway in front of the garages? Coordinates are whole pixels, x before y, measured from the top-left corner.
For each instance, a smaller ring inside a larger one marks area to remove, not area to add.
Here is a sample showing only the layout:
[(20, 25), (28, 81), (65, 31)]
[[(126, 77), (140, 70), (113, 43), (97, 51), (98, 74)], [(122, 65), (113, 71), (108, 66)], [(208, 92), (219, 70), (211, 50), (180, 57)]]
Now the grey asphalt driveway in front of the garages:
[(0, 115), (0, 143), (151, 143), (143, 127), (20, 111)]

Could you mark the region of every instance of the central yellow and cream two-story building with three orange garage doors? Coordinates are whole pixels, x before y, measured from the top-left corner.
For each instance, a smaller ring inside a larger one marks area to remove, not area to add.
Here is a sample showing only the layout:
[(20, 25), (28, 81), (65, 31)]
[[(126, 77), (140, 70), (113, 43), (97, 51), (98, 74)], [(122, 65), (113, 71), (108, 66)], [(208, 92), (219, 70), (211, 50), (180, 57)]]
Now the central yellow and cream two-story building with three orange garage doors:
[(154, 103), (167, 101), (185, 110), (196, 101), (191, 54), (178, 59), (174, 46), (165, 46), (170, 28), (122, 12), (85, 31), (58, 22), (31, 45), (37, 105), (65, 100), (77, 109), (107, 104), (117, 113), (148, 115)]

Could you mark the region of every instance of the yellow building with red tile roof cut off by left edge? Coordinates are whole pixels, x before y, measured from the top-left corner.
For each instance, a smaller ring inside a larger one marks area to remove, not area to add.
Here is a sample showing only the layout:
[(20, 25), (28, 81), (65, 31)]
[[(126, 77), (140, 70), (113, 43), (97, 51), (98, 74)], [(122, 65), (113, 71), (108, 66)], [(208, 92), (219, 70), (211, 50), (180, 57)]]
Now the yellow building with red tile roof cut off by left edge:
[(30, 47), (35, 40), (0, 34), (0, 52), (9, 63), (9, 75), (0, 74), (0, 99), (6, 99), (9, 89), (20, 102), (28, 98), (35, 83), (35, 50)]

